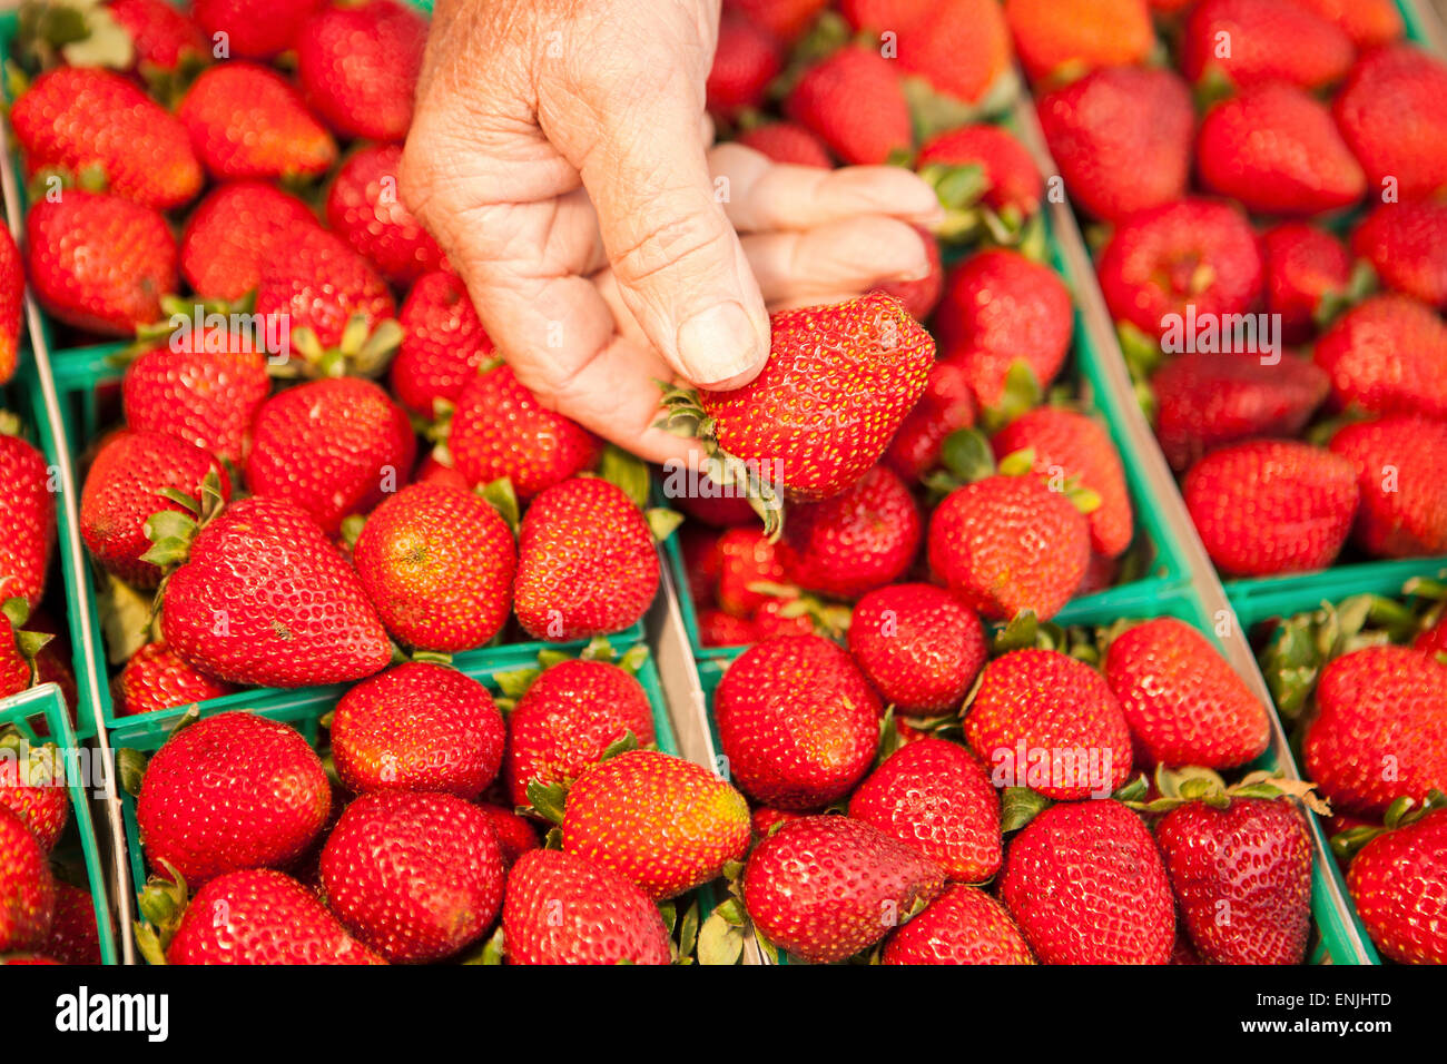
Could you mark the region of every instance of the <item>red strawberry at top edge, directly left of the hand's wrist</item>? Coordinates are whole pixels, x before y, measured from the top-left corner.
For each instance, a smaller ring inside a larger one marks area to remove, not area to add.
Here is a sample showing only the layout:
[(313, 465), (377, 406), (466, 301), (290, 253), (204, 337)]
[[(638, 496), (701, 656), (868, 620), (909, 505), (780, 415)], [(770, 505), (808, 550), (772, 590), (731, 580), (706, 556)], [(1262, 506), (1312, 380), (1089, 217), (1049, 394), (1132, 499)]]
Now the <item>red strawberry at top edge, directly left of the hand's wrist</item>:
[(425, 43), (427, 20), (407, 4), (328, 4), (297, 36), (307, 103), (339, 136), (401, 140)]

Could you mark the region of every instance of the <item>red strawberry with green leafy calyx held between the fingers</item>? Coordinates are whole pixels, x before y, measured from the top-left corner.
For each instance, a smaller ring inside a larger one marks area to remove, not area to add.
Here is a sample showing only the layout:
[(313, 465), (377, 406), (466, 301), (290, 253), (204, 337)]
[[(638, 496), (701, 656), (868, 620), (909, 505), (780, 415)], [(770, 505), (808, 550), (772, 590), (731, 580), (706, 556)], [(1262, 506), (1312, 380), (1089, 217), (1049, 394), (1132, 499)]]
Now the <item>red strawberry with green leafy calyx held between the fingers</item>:
[(878, 460), (925, 391), (933, 342), (883, 294), (781, 311), (771, 326), (768, 362), (752, 382), (667, 388), (661, 427), (703, 442), (718, 484), (747, 484), (773, 536), (783, 498), (838, 495)]

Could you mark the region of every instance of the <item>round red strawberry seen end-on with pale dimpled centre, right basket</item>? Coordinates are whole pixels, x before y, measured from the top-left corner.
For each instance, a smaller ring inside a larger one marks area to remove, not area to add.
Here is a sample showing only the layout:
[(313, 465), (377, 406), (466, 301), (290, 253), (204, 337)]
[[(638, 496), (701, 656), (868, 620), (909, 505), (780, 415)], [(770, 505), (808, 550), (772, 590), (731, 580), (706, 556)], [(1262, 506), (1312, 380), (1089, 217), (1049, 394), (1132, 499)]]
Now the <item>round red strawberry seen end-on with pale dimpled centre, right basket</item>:
[(1256, 233), (1239, 207), (1176, 200), (1120, 221), (1097, 263), (1117, 321), (1160, 336), (1171, 316), (1244, 314), (1262, 291)]

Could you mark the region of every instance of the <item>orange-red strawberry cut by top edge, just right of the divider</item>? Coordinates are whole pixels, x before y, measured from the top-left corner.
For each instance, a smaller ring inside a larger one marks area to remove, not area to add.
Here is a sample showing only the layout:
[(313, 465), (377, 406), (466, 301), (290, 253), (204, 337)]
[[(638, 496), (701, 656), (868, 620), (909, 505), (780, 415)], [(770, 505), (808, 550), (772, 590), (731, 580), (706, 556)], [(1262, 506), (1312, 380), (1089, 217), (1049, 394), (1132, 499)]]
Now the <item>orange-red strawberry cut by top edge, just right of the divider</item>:
[(1006, 0), (1004, 17), (1033, 80), (1139, 64), (1156, 43), (1146, 0)]

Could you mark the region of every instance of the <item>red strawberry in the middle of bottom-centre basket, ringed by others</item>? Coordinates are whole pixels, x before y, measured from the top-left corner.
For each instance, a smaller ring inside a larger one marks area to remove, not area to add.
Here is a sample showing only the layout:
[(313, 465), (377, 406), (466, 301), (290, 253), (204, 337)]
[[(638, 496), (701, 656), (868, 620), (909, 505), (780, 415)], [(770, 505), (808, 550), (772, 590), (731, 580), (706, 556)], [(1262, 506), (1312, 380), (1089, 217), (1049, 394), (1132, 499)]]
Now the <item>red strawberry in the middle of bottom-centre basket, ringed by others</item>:
[(1000, 869), (1000, 799), (964, 747), (922, 738), (890, 754), (849, 798), (849, 815), (919, 850), (956, 883)]

